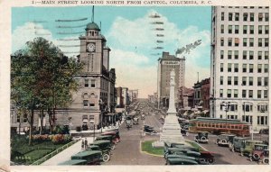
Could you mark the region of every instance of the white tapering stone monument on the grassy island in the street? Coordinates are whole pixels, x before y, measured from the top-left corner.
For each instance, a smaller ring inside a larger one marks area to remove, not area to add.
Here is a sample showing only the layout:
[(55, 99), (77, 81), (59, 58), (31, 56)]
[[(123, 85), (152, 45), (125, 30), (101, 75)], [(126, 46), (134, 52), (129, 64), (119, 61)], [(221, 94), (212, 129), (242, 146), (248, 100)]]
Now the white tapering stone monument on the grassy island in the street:
[(164, 119), (163, 132), (160, 134), (161, 142), (183, 142), (181, 127), (176, 116), (175, 108), (175, 70), (171, 71), (170, 99), (167, 115)]

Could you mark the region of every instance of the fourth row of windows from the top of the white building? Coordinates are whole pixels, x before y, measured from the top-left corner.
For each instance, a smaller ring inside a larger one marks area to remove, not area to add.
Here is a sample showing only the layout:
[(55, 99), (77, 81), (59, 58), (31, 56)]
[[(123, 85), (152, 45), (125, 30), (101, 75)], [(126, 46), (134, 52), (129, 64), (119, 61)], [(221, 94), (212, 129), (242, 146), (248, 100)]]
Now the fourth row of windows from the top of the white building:
[[(265, 53), (265, 59), (268, 59), (269, 51), (257, 51), (257, 59), (263, 59), (263, 53)], [(239, 59), (239, 51), (228, 50), (227, 57), (228, 59)], [(243, 50), (242, 57), (243, 59), (254, 59), (254, 51)], [(224, 50), (220, 50), (220, 59), (224, 59)]]

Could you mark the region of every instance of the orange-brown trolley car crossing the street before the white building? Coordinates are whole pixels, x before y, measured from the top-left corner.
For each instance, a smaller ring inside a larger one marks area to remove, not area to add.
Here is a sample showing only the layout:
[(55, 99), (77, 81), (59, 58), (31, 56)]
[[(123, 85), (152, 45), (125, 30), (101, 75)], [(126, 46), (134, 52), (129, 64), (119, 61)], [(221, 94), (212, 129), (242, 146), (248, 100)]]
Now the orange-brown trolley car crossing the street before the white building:
[(239, 120), (203, 117), (192, 119), (189, 122), (190, 131), (209, 131), (214, 134), (233, 133), (243, 137), (249, 135), (249, 126), (251, 125)]

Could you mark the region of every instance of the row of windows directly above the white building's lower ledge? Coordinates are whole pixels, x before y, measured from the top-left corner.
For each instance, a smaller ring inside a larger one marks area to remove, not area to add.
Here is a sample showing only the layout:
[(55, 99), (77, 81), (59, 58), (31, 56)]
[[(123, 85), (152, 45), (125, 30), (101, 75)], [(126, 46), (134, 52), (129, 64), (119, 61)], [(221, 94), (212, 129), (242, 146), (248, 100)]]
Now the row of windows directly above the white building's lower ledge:
[[(242, 98), (253, 98), (254, 90), (242, 90)], [(220, 97), (224, 97), (224, 90), (220, 89)], [(238, 89), (227, 89), (226, 97), (238, 98)], [(268, 98), (268, 90), (257, 90), (257, 98)]]

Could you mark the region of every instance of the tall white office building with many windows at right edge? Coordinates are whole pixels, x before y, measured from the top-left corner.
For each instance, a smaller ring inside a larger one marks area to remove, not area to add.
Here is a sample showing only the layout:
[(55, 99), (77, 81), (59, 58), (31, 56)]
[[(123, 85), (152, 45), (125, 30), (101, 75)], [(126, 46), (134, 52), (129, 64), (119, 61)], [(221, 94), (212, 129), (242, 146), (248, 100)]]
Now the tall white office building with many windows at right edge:
[(215, 6), (211, 11), (210, 116), (252, 123), (269, 119), (269, 9)]

